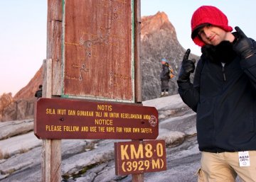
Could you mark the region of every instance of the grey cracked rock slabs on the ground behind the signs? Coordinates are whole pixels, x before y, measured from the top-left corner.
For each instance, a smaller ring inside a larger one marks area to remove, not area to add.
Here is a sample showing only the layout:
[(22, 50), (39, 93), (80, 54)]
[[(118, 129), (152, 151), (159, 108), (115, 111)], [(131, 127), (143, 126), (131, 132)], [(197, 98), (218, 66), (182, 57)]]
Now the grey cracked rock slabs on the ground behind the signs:
[[(193, 182), (201, 153), (196, 141), (196, 113), (178, 95), (144, 101), (159, 111), (159, 137), (166, 142), (166, 171), (145, 173), (145, 182)], [(117, 140), (62, 140), (62, 181), (128, 182), (116, 176)], [(33, 135), (33, 120), (0, 123), (0, 181), (41, 181), (42, 141)]]

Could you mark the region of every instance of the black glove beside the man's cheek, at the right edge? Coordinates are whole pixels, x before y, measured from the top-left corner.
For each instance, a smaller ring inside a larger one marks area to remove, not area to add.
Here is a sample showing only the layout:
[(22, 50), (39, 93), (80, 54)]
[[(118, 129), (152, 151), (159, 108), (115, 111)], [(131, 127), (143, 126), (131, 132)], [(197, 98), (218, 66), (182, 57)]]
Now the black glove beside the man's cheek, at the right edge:
[(238, 26), (235, 27), (235, 30), (238, 33), (238, 39), (233, 42), (233, 50), (235, 50), (242, 59), (246, 59), (247, 57), (254, 55), (255, 50), (252, 45), (252, 41), (247, 38), (245, 33), (243, 33)]

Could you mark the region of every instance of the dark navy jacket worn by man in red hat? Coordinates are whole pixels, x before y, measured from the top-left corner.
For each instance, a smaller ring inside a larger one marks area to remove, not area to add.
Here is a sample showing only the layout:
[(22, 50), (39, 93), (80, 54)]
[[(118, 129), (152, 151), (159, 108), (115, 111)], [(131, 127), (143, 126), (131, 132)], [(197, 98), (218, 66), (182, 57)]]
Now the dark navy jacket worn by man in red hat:
[(242, 60), (231, 51), (232, 59), (223, 60), (223, 52), (208, 53), (198, 61), (193, 84), (178, 83), (184, 103), (197, 113), (199, 149), (256, 150), (256, 55)]

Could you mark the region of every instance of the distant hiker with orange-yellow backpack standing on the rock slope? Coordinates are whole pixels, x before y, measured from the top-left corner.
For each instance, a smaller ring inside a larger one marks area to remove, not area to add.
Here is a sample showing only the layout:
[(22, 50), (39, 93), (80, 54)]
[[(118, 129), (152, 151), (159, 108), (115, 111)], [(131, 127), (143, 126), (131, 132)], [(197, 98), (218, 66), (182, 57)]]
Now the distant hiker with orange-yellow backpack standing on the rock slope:
[(161, 80), (161, 97), (169, 95), (169, 79), (173, 77), (173, 70), (169, 65), (169, 61), (165, 58), (161, 59), (162, 70), (160, 74)]

